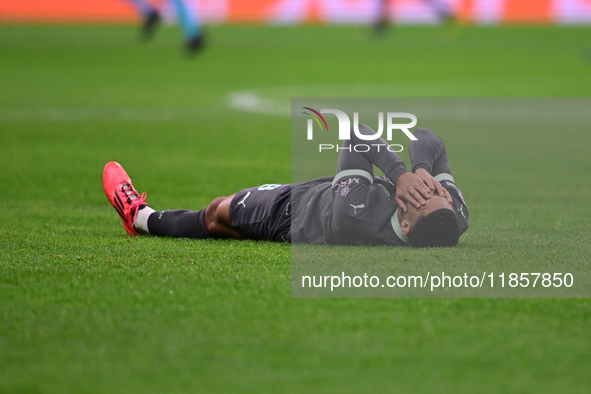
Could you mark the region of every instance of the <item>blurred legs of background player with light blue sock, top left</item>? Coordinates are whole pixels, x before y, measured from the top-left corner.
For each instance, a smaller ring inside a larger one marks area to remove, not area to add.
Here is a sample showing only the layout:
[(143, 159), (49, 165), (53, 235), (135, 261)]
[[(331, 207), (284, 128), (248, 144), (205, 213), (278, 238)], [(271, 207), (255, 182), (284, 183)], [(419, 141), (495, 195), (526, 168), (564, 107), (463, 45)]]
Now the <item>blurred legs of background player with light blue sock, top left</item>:
[[(142, 15), (142, 35), (145, 40), (149, 40), (153, 37), (156, 28), (160, 24), (160, 13), (147, 0), (127, 1), (131, 2)], [(203, 46), (203, 31), (199, 20), (182, 0), (171, 0), (171, 2), (181, 24), (187, 51), (194, 53)]]

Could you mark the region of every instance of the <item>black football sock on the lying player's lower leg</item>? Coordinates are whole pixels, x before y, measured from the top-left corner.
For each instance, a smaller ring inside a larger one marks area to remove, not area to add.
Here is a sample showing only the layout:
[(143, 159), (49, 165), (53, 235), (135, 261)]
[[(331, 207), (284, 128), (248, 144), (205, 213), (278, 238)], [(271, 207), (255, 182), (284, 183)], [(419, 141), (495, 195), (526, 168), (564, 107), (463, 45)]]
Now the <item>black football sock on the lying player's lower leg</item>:
[(211, 238), (205, 225), (205, 209), (154, 212), (148, 218), (151, 235), (173, 238)]

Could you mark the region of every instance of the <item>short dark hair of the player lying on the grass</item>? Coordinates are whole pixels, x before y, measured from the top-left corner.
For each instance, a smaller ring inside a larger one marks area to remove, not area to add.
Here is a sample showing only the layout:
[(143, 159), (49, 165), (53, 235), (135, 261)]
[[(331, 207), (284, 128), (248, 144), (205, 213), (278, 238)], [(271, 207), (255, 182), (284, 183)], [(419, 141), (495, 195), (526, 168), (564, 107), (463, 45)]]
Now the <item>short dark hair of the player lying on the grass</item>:
[(419, 216), (408, 233), (411, 246), (456, 246), (460, 239), (460, 223), (454, 211), (440, 208)]

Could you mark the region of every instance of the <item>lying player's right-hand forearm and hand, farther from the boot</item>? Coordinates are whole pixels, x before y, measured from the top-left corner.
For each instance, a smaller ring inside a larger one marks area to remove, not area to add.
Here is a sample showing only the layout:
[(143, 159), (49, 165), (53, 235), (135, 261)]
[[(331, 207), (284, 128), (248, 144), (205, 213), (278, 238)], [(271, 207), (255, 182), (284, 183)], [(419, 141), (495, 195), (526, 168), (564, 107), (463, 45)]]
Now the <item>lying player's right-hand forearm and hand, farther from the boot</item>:
[(411, 141), (408, 148), (412, 171), (440, 196), (445, 196), (451, 204), (452, 198), (435, 176), (449, 174), (451, 169), (447, 160), (447, 150), (443, 140), (429, 129), (418, 128), (414, 133), (417, 140)]

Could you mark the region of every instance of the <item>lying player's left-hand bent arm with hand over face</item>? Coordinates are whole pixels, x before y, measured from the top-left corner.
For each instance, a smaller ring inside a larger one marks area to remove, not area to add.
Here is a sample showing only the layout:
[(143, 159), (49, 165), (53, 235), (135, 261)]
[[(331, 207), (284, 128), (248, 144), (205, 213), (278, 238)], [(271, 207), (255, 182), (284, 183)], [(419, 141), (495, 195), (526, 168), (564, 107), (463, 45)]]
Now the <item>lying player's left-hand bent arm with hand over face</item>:
[[(359, 132), (363, 135), (374, 135), (375, 132), (367, 125), (360, 124)], [(360, 139), (352, 132), (351, 139), (343, 143), (337, 162), (337, 175), (335, 181), (349, 175), (361, 175), (373, 183), (373, 165), (375, 164), (386, 177), (396, 185), (396, 201), (406, 212), (408, 202), (417, 208), (426, 204), (426, 199), (431, 198), (431, 190), (423, 180), (408, 171), (404, 161), (388, 149), (388, 143), (383, 138), (373, 140), (371, 149), (367, 152), (357, 152), (354, 146), (367, 144), (367, 141)], [(379, 148), (379, 149), (378, 149)]]

